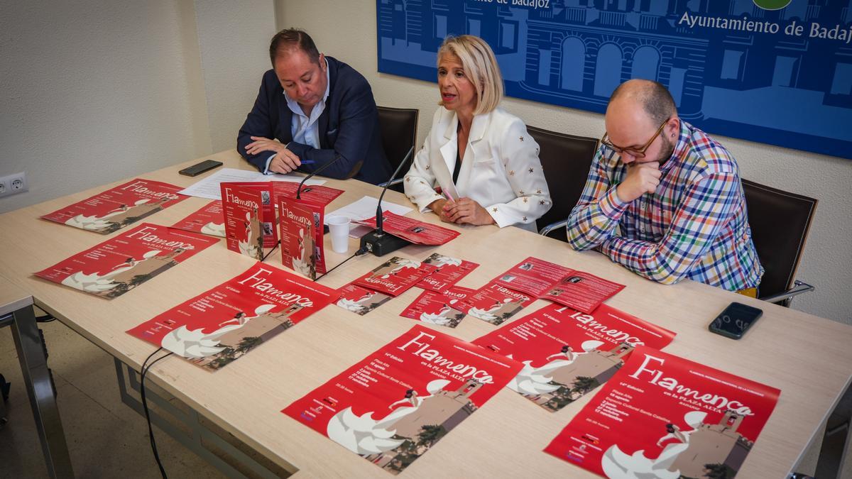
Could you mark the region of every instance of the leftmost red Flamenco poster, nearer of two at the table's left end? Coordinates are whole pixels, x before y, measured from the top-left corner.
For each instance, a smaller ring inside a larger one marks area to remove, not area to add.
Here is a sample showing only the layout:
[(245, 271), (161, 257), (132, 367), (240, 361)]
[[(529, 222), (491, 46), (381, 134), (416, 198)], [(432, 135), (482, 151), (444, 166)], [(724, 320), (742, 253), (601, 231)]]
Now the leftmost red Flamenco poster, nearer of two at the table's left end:
[(201, 234), (142, 223), (35, 275), (112, 299), (217, 241)]

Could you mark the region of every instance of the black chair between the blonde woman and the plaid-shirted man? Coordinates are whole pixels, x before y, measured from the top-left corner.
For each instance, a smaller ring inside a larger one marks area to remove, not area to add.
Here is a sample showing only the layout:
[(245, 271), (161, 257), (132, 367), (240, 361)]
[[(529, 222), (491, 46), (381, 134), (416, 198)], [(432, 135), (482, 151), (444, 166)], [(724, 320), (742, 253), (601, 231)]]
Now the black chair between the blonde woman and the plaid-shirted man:
[[(556, 133), (534, 126), (527, 126), (527, 131), (541, 148), (538, 159), (544, 167), (544, 177), (550, 189), (550, 199), (553, 201), (550, 211), (536, 221), (540, 230), (550, 223), (566, 219), (577, 205), (589, 176), (597, 139)], [(566, 240), (564, 228), (559, 228), (549, 236)]]

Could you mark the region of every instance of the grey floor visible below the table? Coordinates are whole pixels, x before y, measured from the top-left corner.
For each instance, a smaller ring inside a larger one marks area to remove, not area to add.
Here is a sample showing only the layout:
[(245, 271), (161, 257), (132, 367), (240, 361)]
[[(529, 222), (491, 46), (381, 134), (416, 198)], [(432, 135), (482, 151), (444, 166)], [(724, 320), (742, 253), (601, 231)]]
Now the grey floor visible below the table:
[[(48, 364), (54, 372), (57, 402), (76, 475), (159, 477), (144, 418), (119, 398), (112, 356), (59, 321), (43, 323), (41, 327), (47, 338)], [(10, 328), (0, 329), (0, 373), (12, 383), (9, 423), (0, 429), (0, 477), (47, 476)], [(156, 427), (154, 434), (170, 477), (223, 477)], [(819, 442), (810, 447), (798, 471), (815, 474)], [(838, 458), (843, 451), (834, 449), (837, 450), (828, 454)], [(852, 477), (852, 460), (846, 463), (841, 477)]]

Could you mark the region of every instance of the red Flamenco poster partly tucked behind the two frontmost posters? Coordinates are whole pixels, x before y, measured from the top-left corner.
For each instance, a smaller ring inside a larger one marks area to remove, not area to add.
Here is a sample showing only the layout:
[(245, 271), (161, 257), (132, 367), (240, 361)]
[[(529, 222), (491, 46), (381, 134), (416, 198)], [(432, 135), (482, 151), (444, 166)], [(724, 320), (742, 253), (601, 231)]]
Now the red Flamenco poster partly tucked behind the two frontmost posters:
[(636, 346), (661, 349), (673, 338), (674, 332), (606, 304), (594, 315), (550, 304), (473, 343), (521, 361), (509, 389), (559, 411), (612, 378)]

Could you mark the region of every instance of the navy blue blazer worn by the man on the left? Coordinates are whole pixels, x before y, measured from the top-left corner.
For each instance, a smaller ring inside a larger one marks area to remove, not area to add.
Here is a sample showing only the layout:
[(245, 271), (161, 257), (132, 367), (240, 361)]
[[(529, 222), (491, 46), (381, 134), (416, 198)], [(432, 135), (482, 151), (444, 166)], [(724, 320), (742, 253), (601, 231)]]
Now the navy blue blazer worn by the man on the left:
[(314, 164), (302, 164), (299, 171), (310, 173), (340, 155), (343, 158), (322, 170), (320, 176), (345, 179), (354, 175), (358, 180), (373, 184), (387, 182), (393, 170), (384, 156), (378, 111), (370, 84), (343, 61), (331, 56), (325, 59), (328, 61), (329, 91), (325, 111), (317, 120), (320, 148), (292, 141), (293, 113), (287, 107), (284, 89), (274, 70), (269, 70), (263, 74), (255, 107), (239, 129), (237, 151), (263, 171), (266, 160), (273, 153), (250, 155), (245, 153), (245, 146), (252, 141), (250, 136), (275, 138), (284, 144), (290, 143), (287, 148), (299, 159), (314, 161)]

